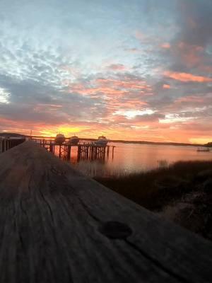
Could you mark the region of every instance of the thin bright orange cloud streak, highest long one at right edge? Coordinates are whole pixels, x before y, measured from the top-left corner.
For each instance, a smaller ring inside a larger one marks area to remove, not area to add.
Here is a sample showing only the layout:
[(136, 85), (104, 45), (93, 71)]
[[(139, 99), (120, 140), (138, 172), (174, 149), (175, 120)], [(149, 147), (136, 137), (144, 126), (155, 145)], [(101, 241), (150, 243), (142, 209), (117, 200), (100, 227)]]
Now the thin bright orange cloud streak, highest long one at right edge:
[(196, 83), (210, 83), (212, 82), (212, 78), (208, 78), (206, 76), (195, 76), (193, 74), (189, 73), (179, 73), (174, 71), (165, 71), (164, 76), (167, 76), (168, 78), (175, 79), (177, 81), (194, 81)]

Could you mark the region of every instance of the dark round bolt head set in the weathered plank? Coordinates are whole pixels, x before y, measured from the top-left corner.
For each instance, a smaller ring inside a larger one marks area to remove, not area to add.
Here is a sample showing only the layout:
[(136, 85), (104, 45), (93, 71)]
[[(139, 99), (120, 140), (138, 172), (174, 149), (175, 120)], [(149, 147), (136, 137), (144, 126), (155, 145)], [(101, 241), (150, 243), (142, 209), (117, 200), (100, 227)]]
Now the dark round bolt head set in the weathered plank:
[(131, 235), (131, 228), (118, 221), (108, 221), (102, 224), (99, 228), (100, 233), (107, 238), (124, 239)]

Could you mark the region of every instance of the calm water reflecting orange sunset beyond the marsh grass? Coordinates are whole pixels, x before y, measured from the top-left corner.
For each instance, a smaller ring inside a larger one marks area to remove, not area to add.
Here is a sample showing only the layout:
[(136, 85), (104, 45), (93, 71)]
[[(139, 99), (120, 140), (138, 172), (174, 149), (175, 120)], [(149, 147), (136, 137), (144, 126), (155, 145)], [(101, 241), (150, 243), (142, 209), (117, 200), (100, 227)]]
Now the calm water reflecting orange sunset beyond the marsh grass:
[[(212, 151), (198, 152), (196, 146), (110, 143), (116, 146), (114, 158), (105, 161), (77, 161), (76, 147), (71, 149), (71, 163), (79, 171), (93, 176), (126, 175), (169, 166), (176, 161), (212, 160)], [(112, 149), (110, 149), (112, 151)]]

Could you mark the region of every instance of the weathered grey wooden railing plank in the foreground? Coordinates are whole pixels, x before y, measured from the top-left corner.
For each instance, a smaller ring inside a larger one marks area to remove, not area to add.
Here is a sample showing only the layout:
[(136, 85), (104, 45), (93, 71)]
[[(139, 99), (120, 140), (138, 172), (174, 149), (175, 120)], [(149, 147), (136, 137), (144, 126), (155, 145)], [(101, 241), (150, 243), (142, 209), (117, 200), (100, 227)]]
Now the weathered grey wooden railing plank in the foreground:
[(0, 282), (201, 283), (212, 244), (27, 141), (0, 154)]

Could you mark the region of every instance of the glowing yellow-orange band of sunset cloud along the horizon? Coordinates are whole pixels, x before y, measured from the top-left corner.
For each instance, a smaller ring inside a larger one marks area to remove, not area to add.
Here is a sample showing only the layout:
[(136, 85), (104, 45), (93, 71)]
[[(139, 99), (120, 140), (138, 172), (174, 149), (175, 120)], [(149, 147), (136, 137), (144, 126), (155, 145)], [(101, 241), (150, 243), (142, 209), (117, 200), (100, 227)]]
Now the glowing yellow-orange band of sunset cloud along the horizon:
[[(211, 123), (199, 121), (194, 122), (175, 122), (161, 124), (158, 121), (133, 121), (124, 119), (123, 116), (112, 116), (108, 119), (101, 118), (93, 122), (71, 122), (70, 124), (46, 125), (25, 121), (13, 121), (0, 117), (0, 129), (4, 132), (17, 132), (22, 134), (43, 135), (55, 137), (58, 132), (64, 133), (67, 137), (76, 133), (78, 137), (95, 138), (104, 134), (109, 139), (143, 140), (148, 141), (177, 141), (177, 142), (200, 142), (211, 141)], [(1, 127), (4, 125), (4, 129)], [(123, 130), (124, 129), (124, 130)], [(163, 133), (163, 134), (161, 134)]]

